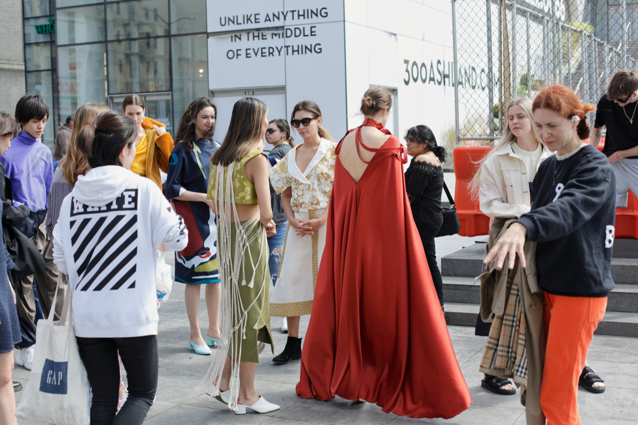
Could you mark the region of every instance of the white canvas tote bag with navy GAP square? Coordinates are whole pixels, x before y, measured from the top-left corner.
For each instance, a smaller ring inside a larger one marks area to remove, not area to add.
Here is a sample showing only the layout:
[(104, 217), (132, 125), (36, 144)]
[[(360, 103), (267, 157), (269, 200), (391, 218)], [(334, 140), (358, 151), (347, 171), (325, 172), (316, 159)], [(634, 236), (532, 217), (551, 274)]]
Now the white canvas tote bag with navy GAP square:
[[(58, 287), (60, 282), (59, 278)], [(72, 295), (73, 291), (67, 287), (59, 321), (53, 320), (57, 291), (47, 320), (38, 320), (33, 368), (15, 410), (19, 419), (56, 425), (89, 425), (91, 395), (73, 330)]]

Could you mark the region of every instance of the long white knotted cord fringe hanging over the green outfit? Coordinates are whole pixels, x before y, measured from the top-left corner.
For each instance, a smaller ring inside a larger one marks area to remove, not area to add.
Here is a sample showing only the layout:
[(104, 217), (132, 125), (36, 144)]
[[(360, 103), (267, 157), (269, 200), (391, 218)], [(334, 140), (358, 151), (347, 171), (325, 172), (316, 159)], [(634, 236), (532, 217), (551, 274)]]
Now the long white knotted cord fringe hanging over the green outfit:
[[(246, 339), (246, 325), (248, 321), (248, 311), (255, 305), (255, 302), (262, 297), (265, 300), (265, 287), (267, 285), (267, 273), (263, 273), (262, 287), (256, 295), (255, 299), (248, 305), (244, 306), (239, 294), (240, 285), (248, 285), (252, 288), (255, 285), (255, 271), (262, 259), (263, 253), (268, 252), (265, 248), (266, 237), (265, 228), (261, 228), (263, 232), (262, 247), (260, 249), (259, 258), (256, 262), (249, 250), (249, 246), (258, 237), (255, 234), (248, 239), (248, 234), (255, 226), (261, 226), (259, 221), (260, 215), (257, 213), (253, 218), (240, 223), (237, 207), (235, 207), (235, 193), (233, 188), (233, 171), (237, 163), (230, 164), (226, 169), (221, 165), (217, 165), (216, 183), (214, 198), (217, 199), (217, 232), (219, 245), (217, 247), (217, 262), (219, 269), (219, 279), (221, 280), (221, 306), (219, 309), (219, 329), (221, 338), (218, 348), (214, 350), (211, 366), (209, 367), (204, 379), (198, 385), (197, 389), (204, 389), (204, 392), (211, 396), (219, 394), (219, 384), (221, 383), (221, 375), (226, 363), (226, 357), (230, 355), (232, 359), (241, 358), (242, 341)], [(234, 219), (234, 220), (231, 220)], [(232, 250), (232, 226), (233, 222), (236, 228), (235, 249)], [(246, 258), (248, 253), (248, 258)], [(246, 262), (248, 260), (248, 263)], [(252, 269), (251, 280), (246, 282), (246, 273), (243, 273), (242, 281), (239, 276), (242, 270)], [(257, 329), (259, 319), (253, 326)], [(238, 341), (234, 341), (233, 350), (230, 351), (230, 342), (235, 334), (241, 336)], [(263, 346), (260, 347), (263, 350)], [(230, 373), (230, 399), (228, 400), (228, 408), (237, 410), (237, 398), (239, 396), (239, 361), (233, 361)]]

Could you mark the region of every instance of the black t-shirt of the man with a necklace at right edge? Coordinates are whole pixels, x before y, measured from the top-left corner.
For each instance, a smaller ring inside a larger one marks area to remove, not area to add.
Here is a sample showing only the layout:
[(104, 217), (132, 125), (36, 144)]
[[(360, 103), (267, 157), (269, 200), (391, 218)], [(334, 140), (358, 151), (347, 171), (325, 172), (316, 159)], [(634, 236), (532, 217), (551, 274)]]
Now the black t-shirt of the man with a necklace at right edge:
[[(594, 122), (594, 127), (596, 128), (607, 127), (605, 147), (602, 153), (610, 156), (616, 151), (624, 151), (638, 145), (638, 110), (636, 110), (634, 116), (634, 124), (629, 121), (637, 107), (638, 102), (630, 103), (625, 106), (625, 111), (623, 112), (623, 108), (618, 103), (607, 99), (607, 93), (602, 95), (602, 98), (598, 101), (596, 121)], [(625, 113), (627, 116), (625, 116)], [(634, 160), (638, 159), (638, 156), (630, 156), (628, 158)]]

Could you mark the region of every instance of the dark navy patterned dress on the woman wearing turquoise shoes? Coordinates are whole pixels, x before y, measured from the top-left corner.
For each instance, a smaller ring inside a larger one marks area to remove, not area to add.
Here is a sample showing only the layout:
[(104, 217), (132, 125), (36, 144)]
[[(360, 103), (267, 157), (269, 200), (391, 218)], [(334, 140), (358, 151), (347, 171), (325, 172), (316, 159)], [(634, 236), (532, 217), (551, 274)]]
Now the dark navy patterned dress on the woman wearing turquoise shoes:
[(175, 253), (175, 281), (191, 284), (219, 282), (215, 214), (205, 202), (175, 199), (185, 191), (206, 193), (211, 155), (218, 142), (196, 140), (188, 152), (182, 142), (175, 145), (168, 161), (166, 197), (188, 228), (188, 246)]

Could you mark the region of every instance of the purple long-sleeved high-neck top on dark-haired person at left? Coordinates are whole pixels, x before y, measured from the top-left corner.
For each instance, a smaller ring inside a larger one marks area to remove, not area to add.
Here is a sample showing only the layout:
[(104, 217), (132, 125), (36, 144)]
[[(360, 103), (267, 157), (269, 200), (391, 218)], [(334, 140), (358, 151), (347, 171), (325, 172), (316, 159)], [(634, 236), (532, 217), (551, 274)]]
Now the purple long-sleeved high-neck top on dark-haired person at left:
[(53, 179), (50, 149), (24, 131), (20, 132), (0, 162), (13, 186), (13, 201), (27, 205), (31, 211), (45, 209)]

